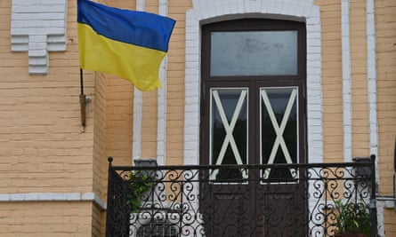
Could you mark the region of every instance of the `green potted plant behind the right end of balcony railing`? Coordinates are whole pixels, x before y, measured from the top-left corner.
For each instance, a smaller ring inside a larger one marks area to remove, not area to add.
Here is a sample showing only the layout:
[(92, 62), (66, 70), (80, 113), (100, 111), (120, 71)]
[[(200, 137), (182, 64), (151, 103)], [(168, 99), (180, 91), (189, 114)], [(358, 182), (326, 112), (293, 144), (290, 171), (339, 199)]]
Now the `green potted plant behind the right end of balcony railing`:
[(343, 203), (337, 200), (335, 208), (338, 209), (335, 237), (370, 236), (371, 217), (364, 203)]

